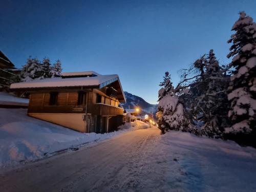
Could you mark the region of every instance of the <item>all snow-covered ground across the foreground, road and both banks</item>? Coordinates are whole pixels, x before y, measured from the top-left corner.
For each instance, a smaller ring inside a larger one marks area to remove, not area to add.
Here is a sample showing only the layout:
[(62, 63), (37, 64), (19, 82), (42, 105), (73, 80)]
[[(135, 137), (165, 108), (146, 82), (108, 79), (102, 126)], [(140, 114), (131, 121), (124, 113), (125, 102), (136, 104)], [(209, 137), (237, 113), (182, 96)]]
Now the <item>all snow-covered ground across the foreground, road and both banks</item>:
[(160, 135), (141, 121), (118, 132), (83, 134), (28, 117), (26, 110), (0, 114), (2, 166), (79, 146), (18, 170), (0, 169), (0, 191), (256, 191), (256, 149), (233, 141)]

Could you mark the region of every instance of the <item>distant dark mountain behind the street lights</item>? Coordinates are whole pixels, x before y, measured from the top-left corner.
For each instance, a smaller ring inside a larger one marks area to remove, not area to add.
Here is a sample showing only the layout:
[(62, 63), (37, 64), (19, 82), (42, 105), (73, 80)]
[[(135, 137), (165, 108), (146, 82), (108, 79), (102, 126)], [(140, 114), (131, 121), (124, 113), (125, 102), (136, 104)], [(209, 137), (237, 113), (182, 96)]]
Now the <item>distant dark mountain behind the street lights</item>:
[(133, 95), (128, 92), (124, 92), (126, 97), (126, 103), (120, 103), (124, 109), (135, 109), (136, 107), (141, 109), (141, 114), (148, 114), (157, 112), (157, 104), (150, 104), (139, 96)]

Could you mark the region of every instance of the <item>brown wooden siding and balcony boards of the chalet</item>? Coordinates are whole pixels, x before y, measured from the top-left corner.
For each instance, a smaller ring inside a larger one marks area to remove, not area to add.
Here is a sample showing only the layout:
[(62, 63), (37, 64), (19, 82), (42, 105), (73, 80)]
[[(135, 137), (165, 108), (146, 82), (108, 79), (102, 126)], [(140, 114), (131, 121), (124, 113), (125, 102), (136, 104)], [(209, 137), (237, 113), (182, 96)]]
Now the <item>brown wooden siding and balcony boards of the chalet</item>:
[[(96, 103), (96, 92), (88, 94), (88, 114), (114, 116), (122, 115), (121, 108), (117, 108), (118, 101), (101, 95), (101, 102)], [(77, 105), (78, 92), (59, 92), (57, 104), (50, 105), (50, 93), (31, 93), (29, 113), (86, 113), (86, 96), (82, 105)], [(105, 102), (105, 103), (104, 103)]]

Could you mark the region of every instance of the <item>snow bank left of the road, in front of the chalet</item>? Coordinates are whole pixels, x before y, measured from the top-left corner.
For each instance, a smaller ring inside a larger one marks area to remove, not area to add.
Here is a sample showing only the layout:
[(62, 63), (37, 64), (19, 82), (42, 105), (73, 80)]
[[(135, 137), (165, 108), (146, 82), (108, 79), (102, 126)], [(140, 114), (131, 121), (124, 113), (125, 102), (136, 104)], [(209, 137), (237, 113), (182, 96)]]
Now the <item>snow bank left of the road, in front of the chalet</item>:
[(102, 141), (127, 131), (144, 129), (142, 121), (125, 123), (120, 131), (106, 134), (79, 133), (27, 116), (26, 109), (0, 108), (0, 167), (34, 161), (57, 151)]

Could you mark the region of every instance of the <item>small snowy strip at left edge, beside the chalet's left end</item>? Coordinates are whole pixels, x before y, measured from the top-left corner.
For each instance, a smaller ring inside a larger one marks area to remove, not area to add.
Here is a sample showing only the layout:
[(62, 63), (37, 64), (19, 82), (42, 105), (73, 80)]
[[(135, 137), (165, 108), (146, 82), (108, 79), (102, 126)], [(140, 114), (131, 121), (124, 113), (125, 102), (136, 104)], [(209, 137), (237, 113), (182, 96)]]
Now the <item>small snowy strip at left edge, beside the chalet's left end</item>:
[(0, 104), (28, 106), (29, 99), (19, 98), (7, 92), (0, 92)]

